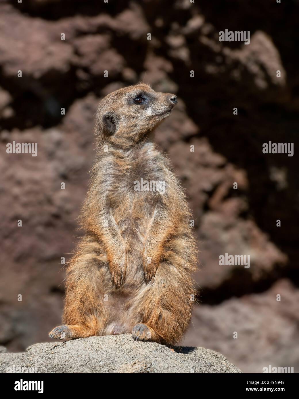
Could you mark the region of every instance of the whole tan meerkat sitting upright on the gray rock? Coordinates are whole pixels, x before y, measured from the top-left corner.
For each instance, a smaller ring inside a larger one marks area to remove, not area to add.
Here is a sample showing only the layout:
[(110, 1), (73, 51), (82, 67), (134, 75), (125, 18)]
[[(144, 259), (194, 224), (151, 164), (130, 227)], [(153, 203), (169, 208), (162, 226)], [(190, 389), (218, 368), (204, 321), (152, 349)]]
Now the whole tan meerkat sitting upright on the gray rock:
[(187, 329), (197, 258), (191, 214), (151, 140), (175, 104), (175, 95), (144, 83), (100, 102), (85, 236), (67, 267), (64, 324), (50, 338), (130, 333), (175, 344)]

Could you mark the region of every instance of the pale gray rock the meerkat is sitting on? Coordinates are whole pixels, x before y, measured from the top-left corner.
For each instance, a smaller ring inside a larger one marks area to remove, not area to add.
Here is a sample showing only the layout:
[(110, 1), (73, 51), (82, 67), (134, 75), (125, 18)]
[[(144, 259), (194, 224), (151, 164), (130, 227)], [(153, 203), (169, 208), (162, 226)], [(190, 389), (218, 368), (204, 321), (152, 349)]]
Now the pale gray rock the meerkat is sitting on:
[(130, 334), (34, 344), (0, 353), (1, 373), (241, 373), (212, 350), (136, 342)]

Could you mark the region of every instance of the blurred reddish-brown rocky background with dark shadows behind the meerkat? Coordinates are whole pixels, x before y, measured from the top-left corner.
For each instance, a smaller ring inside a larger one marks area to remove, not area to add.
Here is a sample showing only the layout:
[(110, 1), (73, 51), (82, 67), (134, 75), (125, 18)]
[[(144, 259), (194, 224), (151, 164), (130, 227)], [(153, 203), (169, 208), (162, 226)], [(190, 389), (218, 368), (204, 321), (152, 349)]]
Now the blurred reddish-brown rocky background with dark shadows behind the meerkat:
[[(298, 12), (295, 0), (0, 1), (1, 345), (22, 351), (60, 323), (96, 107), (142, 80), (179, 98), (156, 142), (201, 251), (181, 344), (243, 371), (299, 371)], [(250, 44), (219, 42), (225, 29), (250, 31)], [(6, 154), (13, 140), (37, 142), (38, 156)], [(294, 143), (294, 156), (263, 154), (269, 140)], [(250, 268), (219, 266), (225, 253), (250, 255)]]

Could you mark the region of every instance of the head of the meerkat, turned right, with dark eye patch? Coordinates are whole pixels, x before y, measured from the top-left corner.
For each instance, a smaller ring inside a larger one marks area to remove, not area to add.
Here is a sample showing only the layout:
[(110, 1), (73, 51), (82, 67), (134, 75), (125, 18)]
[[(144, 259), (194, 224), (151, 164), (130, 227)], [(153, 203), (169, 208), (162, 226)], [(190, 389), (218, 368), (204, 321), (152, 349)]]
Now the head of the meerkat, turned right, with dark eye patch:
[(102, 143), (123, 148), (144, 140), (177, 104), (177, 97), (158, 93), (144, 83), (108, 94), (98, 107), (96, 134)]

